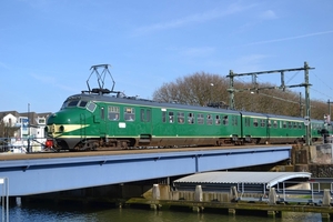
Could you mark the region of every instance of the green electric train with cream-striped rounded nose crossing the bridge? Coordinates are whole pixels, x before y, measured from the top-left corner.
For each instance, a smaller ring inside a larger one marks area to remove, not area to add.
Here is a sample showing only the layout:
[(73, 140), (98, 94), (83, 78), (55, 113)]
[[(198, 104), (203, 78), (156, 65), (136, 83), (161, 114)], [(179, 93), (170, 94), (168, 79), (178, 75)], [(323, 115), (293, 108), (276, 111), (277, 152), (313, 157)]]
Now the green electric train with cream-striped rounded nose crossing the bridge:
[[(48, 119), (47, 147), (89, 151), (305, 141), (303, 118), (161, 103), (99, 85), (69, 97)], [(323, 120), (310, 127), (313, 141), (332, 131)]]

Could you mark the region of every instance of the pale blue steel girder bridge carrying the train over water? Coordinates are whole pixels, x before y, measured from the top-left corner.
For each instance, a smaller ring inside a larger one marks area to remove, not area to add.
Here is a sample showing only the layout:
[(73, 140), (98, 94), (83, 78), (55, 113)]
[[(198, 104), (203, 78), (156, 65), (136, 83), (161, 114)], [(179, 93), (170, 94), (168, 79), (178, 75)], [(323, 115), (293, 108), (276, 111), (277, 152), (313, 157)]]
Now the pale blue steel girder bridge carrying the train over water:
[(2, 154), (0, 182), (7, 185), (8, 196), (23, 196), (275, 163), (290, 159), (291, 149), (258, 145)]

